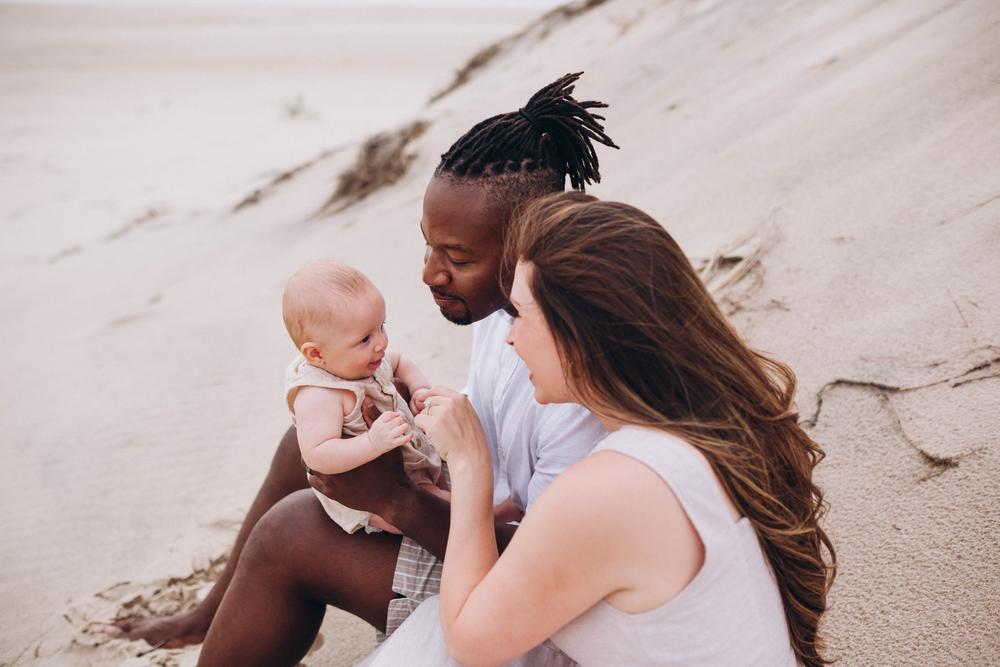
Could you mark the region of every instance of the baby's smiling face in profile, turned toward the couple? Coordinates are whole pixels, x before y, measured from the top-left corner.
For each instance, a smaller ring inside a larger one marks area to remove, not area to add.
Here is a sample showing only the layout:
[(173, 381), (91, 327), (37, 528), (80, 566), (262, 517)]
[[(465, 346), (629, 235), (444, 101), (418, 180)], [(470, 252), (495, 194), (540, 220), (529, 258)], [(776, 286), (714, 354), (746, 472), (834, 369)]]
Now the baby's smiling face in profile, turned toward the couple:
[(336, 314), (310, 338), (323, 355), (320, 367), (345, 380), (370, 377), (385, 356), (385, 300), (374, 287), (337, 300)]

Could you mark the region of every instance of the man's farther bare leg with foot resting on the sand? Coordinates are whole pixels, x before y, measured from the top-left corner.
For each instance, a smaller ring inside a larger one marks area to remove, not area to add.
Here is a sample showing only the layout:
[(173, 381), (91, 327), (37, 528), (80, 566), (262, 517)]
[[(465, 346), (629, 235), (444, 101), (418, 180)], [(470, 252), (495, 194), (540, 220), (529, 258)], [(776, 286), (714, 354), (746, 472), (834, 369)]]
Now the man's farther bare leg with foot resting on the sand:
[(222, 575), (201, 604), (189, 612), (174, 616), (119, 621), (111, 627), (109, 634), (128, 639), (144, 639), (151, 646), (166, 648), (178, 648), (204, 640), (254, 526), (279, 500), (304, 488), (308, 488), (306, 473), (302, 468), (295, 429), (290, 428), (278, 443), (271, 468), (243, 519)]

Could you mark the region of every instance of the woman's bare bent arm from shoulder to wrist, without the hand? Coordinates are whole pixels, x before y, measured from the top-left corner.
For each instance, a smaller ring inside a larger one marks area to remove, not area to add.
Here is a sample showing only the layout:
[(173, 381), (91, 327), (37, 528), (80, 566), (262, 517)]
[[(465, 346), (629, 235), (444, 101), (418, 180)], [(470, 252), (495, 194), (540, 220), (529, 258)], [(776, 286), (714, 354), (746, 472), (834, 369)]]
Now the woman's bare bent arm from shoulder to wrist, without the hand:
[[(499, 559), (472, 525), (484, 523), (481, 514), (459, 507), (481, 473), (452, 470), (452, 536), (463, 530), (464, 539), (481, 541), (461, 550), (449, 541), (441, 580), (445, 642), (463, 664), (506, 662), (602, 599), (628, 613), (659, 607), (704, 562), (697, 530), (673, 490), (625, 454), (591, 454), (559, 475)], [(483, 554), (494, 559), (485, 573)]]

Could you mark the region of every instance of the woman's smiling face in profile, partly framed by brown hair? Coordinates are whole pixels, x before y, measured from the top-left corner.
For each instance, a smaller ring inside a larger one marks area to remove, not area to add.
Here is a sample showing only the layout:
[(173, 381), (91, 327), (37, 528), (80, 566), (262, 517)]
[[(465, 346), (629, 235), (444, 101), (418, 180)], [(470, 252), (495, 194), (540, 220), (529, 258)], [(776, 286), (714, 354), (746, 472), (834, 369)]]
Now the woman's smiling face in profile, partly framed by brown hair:
[(556, 341), (545, 321), (541, 308), (531, 293), (535, 267), (518, 262), (514, 269), (514, 284), (510, 290), (511, 304), (517, 311), (514, 325), (507, 334), (507, 343), (531, 371), (535, 385), (535, 400), (539, 403), (570, 403), (573, 401), (566, 375), (563, 373)]

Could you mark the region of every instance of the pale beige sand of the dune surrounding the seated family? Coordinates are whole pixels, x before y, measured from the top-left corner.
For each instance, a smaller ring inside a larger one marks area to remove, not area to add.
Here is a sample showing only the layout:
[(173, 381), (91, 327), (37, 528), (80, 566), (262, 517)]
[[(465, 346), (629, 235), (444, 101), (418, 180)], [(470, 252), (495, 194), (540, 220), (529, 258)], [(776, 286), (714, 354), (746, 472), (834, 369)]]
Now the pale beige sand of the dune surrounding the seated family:
[[(601, 153), (595, 194), (646, 209), (699, 264), (758, 249), (730, 284), (729, 274), (714, 280), (746, 337), (798, 373), (800, 412), (828, 453), (818, 475), (840, 556), (831, 654), (843, 665), (997, 660), (1000, 8), (591, 4), (503, 43), (430, 106), (428, 91), (461, 59), (413, 94), (385, 84), (407, 101), (391, 117), (358, 115), (372, 129), (427, 121), (404, 149), (415, 157), (395, 184), (321, 219), (313, 214), (363, 138), (354, 130), (342, 150), (227, 213), (339, 145), (310, 135), (319, 121), (307, 113), (288, 118), (303, 86), (263, 87), (229, 63), (248, 77), (241, 98), (178, 66), (172, 85), (206, 106), (175, 110), (171, 134), (156, 120), (166, 111), (138, 102), (154, 87), (151, 55), (100, 76), (87, 74), (94, 63), (78, 76), (50, 72), (56, 87), (9, 55), (48, 71), (52, 53), (33, 54), (24, 29), (14, 44), (0, 39), (15, 91), (0, 102), (12, 239), (0, 250), (0, 594), (14, 601), (0, 612), (3, 660), (62, 650), (50, 629), (70, 626), (59, 615), (73, 604), (93, 605), (121, 580), (186, 575), (193, 556), (204, 562), (231, 539), (285, 425), (277, 303), (302, 262), (327, 256), (369, 272), (387, 294), (393, 340), (435, 381), (461, 384), (468, 331), (443, 322), (417, 280), (424, 184), (473, 122), (578, 70), (583, 97), (612, 103), (608, 131), (622, 146)], [(5, 37), (11, 16), (0, 14)], [(197, 33), (192, 23), (184, 30)], [(50, 23), (37, 30), (50, 44), (67, 38)], [(120, 35), (122, 53), (147, 48)], [(295, 70), (279, 53), (256, 62)], [(97, 94), (98, 83), (124, 101)], [(327, 107), (311, 90), (305, 107), (319, 113)], [(261, 99), (271, 100), (267, 122), (249, 117), (267, 107)], [(209, 118), (211, 100), (224, 118)], [(101, 115), (101, 131), (74, 122), (81, 109)], [(236, 147), (238, 160), (227, 152)], [(71, 173), (75, 161), (88, 167)], [(363, 640), (349, 628), (328, 623), (322, 650), (362, 650), (347, 646)], [(349, 664), (343, 653), (314, 660)]]

